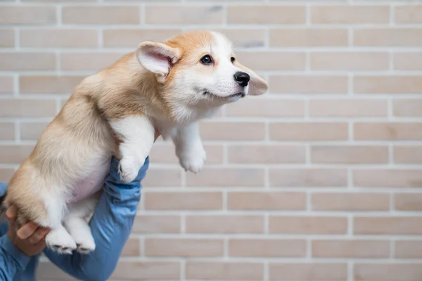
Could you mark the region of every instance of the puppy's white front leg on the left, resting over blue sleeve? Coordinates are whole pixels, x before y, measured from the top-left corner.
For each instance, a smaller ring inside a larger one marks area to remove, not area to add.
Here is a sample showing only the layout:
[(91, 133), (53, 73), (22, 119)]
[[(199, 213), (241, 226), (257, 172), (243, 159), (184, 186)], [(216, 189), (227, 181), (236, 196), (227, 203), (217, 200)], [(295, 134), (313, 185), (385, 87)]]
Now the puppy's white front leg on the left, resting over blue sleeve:
[(120, 177), (125, 182), (132, 182), (153, 147), (153, 124), (145, 116), (139, 115), (113, 120), (110, 125), (121, 140)]

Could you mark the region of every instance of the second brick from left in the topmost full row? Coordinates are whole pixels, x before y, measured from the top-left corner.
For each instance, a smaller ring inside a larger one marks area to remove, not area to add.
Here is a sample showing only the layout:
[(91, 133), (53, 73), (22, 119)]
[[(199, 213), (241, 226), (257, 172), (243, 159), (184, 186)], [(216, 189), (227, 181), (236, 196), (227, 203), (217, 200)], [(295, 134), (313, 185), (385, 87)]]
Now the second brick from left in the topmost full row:
[(65, 6), (64, 24), (137, 24), (140, 23), (138, 6)]

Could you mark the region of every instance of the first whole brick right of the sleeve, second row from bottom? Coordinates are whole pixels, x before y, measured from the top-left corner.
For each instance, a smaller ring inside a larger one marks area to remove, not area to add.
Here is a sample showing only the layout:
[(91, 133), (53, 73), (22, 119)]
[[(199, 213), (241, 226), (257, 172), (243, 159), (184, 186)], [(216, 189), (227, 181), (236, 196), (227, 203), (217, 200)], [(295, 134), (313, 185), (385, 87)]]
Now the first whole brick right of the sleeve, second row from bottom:
[(223, 239), (151, 238), (145, 241), (146, 256), (206, 257), (223, 256)]

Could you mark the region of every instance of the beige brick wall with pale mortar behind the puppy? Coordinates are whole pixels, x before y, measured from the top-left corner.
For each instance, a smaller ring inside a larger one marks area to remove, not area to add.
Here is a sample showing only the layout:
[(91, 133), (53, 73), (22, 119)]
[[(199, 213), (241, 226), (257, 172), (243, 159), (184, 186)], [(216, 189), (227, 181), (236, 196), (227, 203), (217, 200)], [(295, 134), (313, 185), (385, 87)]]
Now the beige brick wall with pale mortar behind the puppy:
[(203, 123), (199, 175), (155, 144), (113, 280), (422, 280), (421, 1), (6, 0), (0, 24), (5, 181), (142, 40), (219, 30), (269, 80)]

